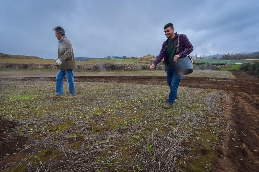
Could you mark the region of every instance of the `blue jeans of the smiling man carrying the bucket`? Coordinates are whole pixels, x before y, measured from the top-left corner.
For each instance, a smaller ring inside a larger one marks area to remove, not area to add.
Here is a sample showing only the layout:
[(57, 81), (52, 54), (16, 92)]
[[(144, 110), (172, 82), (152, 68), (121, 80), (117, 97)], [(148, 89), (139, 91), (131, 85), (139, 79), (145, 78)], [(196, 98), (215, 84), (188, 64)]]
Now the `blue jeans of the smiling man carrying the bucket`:
[(177, 95), (177, 89), (181, 81), (182, 75), (178, 75), (173, 67), (168, 67), (166, 71), (167, 84), (170, 87), (168, 103), (173, 104), (175, 96)]

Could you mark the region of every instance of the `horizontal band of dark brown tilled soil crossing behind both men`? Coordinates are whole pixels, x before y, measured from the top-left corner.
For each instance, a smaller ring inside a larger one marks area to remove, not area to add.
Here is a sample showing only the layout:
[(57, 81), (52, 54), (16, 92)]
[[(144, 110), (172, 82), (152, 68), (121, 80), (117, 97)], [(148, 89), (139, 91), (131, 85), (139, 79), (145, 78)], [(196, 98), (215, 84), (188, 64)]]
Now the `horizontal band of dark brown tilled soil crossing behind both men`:
[[(74, 79), (75, 82), (117, 82), (167, 85), (166, 77), (164, 76), (78, 76), (74, 77)], [(0, 79), (0, 81), (1, 80), (56, 81), (56, 77), (3, 78)], [(64, 81), (65, 80), (66, 79), (64, 79)], [(250, 79), (248, 76), (245, 76), (242, 79), (183, 77), (180, 86), (191, 88), (221, 89), (225, 91), (238, 91), (248, 94), (259, 93), (259, 79)]]

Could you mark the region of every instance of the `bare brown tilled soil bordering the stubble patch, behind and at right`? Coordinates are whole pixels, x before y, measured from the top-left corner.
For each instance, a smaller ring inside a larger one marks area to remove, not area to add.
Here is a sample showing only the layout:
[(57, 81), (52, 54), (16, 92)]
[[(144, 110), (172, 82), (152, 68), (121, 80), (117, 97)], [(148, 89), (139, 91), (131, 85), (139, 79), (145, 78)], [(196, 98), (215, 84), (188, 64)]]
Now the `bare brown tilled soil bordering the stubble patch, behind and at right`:
[[(221, 104), (225, 109), (226, 122), (229, 126), (224, 129), (221, 142), (217, 146), (219, 155), (212, 164), (212, 171), (255, 172), (259, 169), (259, 79), (249, 77), (239, 71), (231, 72), (237, 79), (183, 77), (180, 85), (191, 88), (220, 89), (229, 94), (227, 101)], [(33, 77), (1, 80), (55, 81), (56, 79), (55, 77)], [(81, 76), (75, 77), (75, 82), (167, 85), (166, 77), (163, 76)], [(1, 124), (0, 126), (1, 129), (4, 128)], [(2, 134), (3, 130), (0, 132)], [(15, 147), (15, 140), (11, 141), (13, 141), (11, 142), (12, 147)], [(0, 155), (6, 153), (6, 149), (3, 151), (1, 147)]]

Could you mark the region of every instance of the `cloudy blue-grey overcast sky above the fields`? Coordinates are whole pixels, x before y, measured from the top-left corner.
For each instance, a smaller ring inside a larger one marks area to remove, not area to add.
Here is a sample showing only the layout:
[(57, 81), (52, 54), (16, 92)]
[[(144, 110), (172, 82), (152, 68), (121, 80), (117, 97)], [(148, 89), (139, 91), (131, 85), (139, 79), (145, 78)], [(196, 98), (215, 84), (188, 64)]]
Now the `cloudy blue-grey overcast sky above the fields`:
[(57, 58), (62, 26), (77, 57), (157, 55), (164, 25), (194, 54), (259, 51), (259, 1), (0, 0), (0, 52)]

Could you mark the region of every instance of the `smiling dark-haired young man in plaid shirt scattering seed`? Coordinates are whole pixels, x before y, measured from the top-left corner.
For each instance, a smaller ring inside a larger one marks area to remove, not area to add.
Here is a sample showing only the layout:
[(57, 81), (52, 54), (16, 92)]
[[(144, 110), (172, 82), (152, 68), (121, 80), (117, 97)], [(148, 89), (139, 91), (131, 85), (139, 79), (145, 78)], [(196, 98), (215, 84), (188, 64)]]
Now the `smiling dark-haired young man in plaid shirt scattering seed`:
[[(155, 66), (164, 58), (165, 71), (167, 72), (167, 83), (170, 87), (168, 103), (163, 108), (172, 108), (177, 95), (178, 85), (182, 76), (179, 76), (172, 64), (176, 63), (179, 58), (189, 55), (193, 51), (193, 46), (186, 35), (174, 33), (175, 29), (172, 23), (164, 26), (164, 33), (167, 40), (164, 41), (160, 54), (156, 60), (150, 65), (150, 69), (155, 69)], [(179, 43), (178, 43), (179, 37)]]

